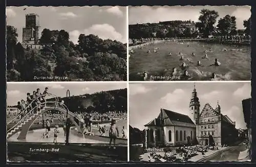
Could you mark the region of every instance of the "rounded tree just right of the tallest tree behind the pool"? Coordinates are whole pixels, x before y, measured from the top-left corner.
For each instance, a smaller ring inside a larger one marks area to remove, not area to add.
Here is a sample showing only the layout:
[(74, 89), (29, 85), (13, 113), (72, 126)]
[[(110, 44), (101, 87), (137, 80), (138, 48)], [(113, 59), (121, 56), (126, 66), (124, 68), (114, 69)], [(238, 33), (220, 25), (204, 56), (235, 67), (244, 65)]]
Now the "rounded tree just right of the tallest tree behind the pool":
[(235, 35), (237, 30), (236, 17), (226, 15), (223, 18), (220, 18), (218, 21), (218, 30), (221, 32), (221, 35)]

